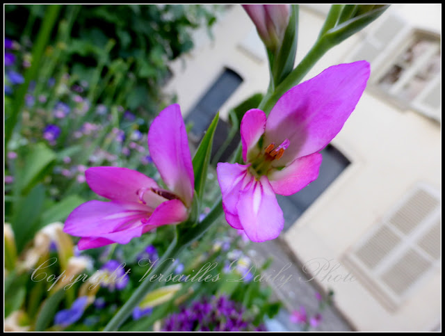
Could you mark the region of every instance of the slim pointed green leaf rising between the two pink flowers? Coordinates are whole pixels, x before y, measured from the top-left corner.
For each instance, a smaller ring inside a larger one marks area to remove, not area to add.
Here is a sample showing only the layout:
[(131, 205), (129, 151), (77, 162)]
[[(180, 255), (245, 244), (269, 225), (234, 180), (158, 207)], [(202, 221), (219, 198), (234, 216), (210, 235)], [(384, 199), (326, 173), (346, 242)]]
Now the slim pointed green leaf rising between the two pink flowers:
[(202, 138), (200, 147), (197, 148), (195, 157), (193, 157), (193, 171), (195, 172), (195, 191), (199, 200), (202, 199), (204, 186), (207, 179), (207, 168), (209, 167), (211, 147), (213, 145), (213, 135), (215, 134), (216, 125), (218, 125), (220, 113), (216, 113), (209, 128)]

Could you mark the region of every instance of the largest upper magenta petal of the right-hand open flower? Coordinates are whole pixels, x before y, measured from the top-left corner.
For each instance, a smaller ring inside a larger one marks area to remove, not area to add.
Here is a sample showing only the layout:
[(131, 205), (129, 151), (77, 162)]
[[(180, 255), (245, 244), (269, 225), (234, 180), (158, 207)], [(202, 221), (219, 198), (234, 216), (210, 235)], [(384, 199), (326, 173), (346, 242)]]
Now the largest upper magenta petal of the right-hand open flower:
[(330, 143), (354, 111), (369, 72), (366, 61), (334, 65), (287, 91), (266, 123), (265, 143), (290, 141), (274, 166), (319, 152)]

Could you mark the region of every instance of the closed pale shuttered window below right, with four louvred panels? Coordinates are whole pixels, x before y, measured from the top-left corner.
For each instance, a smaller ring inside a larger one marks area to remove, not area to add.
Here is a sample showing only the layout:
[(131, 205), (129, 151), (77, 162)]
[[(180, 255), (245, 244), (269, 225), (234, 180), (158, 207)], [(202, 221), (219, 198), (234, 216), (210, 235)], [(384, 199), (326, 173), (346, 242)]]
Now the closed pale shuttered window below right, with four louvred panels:
[(439, 193), (416, 186), (343, 263), (394, 311), (439, 266), (440, 231)]

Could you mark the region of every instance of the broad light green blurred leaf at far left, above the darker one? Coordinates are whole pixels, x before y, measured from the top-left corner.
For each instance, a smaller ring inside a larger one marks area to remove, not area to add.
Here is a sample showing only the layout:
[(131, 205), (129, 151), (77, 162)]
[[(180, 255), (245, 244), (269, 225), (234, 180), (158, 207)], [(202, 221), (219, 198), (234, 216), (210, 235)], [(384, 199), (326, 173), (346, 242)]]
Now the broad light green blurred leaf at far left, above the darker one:
[(56, 159), (56, 153), (50, 150), (44, 143), (38, 143), (30, 147), (22, 168), (17, 172), (17, 188), (19, 189), (19, 193), (24, 191), (24, 189), (29, 189), (31, 182), (33, 182), (42, 170), (54, 159)]

